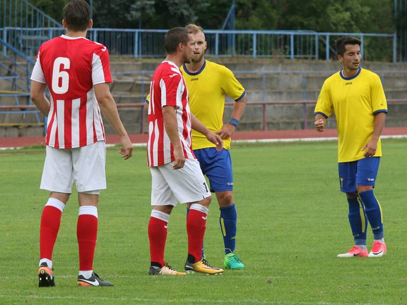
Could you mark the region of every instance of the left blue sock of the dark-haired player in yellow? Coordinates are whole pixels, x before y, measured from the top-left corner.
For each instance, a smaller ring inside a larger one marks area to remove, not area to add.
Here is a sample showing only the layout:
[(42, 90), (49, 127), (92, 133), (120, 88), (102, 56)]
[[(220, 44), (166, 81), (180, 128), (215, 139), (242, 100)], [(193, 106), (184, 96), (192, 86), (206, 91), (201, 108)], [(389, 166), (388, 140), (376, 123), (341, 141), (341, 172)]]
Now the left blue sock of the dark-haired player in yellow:
[(358, 200), (358, 197), (347, 198), (347, 202), (349, 203), (349, 214), (347, 216), (355, 238), (355, 245), (366, 247), (367, 221), (363, 203)]

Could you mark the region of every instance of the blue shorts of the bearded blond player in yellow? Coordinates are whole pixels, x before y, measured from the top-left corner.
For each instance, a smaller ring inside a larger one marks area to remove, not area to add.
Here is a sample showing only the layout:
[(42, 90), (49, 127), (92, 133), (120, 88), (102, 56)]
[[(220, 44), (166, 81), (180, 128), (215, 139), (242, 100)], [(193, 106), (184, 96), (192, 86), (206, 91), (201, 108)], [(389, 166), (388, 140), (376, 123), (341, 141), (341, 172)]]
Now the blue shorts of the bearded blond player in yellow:
[(202, 173), (209, 179), (211, 192), (233, 190), (233, 172), (230, 153), (227, 149), (217, 151), (216, 147), (194, 149)]

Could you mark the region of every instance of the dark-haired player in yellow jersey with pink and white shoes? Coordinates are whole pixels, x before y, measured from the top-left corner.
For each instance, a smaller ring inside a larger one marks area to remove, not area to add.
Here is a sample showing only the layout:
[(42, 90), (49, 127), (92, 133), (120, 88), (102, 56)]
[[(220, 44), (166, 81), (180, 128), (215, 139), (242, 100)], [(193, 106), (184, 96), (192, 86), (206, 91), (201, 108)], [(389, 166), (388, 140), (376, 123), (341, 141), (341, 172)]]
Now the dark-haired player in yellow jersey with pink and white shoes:
[[(330, 76), (315, 106), (315, 129), (323, 132), (334, 112), (338, 130), (340, 190), (349, 204), (349, 223), (355, 246), (338, 257), (381, 257), (387, 247), (383, 237), (382, 207), (373, 193), (379, 169), (382, 133), (387, 113), (386, 96), (379, 76), (360, 67), (361, 41), (344, 36), (336, 41), (342, 70)], [(373, 247), (366, 248), (367, 221)]]

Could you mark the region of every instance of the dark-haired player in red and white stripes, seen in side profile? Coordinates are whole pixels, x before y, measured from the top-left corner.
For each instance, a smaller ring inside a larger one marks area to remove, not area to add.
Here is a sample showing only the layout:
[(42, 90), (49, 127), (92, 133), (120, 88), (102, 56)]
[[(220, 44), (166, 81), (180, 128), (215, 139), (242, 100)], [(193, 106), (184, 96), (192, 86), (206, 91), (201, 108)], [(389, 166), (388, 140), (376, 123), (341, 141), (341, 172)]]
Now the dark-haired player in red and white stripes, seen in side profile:
[(211, 193), (192, 152), (191, 128), (223, 147), (221, 138), (211, 133), (190, 113), (188, 89), (180, 71), (192, 58), (193, 37), (185, 27), (171, 28), (164, 39), (167, 57), (154, 72), (149, 104), (148, 164), (151, 169), (151, 212), (149, 222), (150, 275), (183, 276), (164, 261), (167, 226), (177, 203), (191, 204), (187, 217), (187, 272), (217, 274), (201, 255)]

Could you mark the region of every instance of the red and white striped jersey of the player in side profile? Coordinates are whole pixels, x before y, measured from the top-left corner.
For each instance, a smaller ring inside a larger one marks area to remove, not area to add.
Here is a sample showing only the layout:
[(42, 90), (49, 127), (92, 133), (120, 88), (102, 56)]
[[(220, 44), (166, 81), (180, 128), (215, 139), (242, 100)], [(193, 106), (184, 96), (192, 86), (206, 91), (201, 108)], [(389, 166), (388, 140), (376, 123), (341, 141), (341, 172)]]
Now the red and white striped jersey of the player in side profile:
[(182, 72), (172, 62), (162, 62), (154, 72), (150, 85), (149, 142), (147, 155), (149, 166), (160, 166), (175, 160), (173, 146), (165, 131), (162, 107), (175, 106), (178, 135), (186, 159), (196, 159), (192, 152), (191, 113), (188, 89)]

